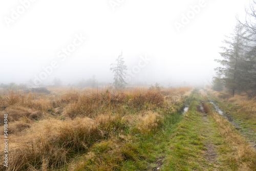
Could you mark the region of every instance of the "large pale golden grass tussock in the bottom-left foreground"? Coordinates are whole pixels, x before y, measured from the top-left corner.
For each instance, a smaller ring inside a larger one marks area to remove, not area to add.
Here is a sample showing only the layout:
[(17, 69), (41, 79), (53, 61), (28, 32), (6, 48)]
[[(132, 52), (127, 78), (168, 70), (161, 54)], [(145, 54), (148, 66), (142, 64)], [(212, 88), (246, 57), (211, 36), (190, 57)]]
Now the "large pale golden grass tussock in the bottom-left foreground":
[[(17, 140), (12, 139), (9, 168), (25, 170), (30, 165), (39, 168), (46, 164), (43, 159), (48, 160), (48, 166), (63, 165), (74, 152), (86, 151), (103, 136), (90, 118), (42, 120), (33, 124)], [(1, 168), (4, 169), (3, 165)]]

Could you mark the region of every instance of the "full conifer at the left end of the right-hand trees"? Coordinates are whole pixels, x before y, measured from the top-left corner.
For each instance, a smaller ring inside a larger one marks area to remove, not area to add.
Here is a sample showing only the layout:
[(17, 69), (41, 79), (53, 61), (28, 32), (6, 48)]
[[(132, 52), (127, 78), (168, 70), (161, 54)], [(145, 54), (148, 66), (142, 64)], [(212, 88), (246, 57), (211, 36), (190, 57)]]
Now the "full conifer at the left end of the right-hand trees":
[(248, 36), (244, 26), (238, 23), (234, 28), (231, 37), (224, 40), (225, 47), (221, 47), (223, 59), (216, 59), (223, 67), (216, 68), (218, 76), (214, 81), (224, 84), (234, 96), (237, 92), (244, 91), (246, 84), (245, 75), (248, 73), (246, 63), (248, 60)]

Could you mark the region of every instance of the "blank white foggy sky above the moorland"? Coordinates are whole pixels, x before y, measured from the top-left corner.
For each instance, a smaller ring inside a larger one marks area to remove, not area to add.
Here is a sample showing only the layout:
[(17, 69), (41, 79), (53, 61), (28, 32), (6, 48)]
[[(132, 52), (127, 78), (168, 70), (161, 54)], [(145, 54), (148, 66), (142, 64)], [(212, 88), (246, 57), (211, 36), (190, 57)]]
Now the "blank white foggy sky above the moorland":
[[(27, 9), (20, 7), (21, 2)], [(52, 61), (58, 67), (47, 75), (46, 83), (54, 77), (69, 83), (93, 74), (99, 81), (112, 81), (110, 64), (121, 50), (130, 70), (138, 66), (140, 55), (152, 59), (133, 74), (132, 81), (202, 83), (217, 66), (214, 59), (220, 58), (224, 35), (248, 4), (247, 0), (28, 2), (0, 1), (0, 83), (27, 82)], [(115, 10), (110, 2), (119, 3)], [(174, 23), (181, 23), (183, 14), (192, 11), (190, 6), (202, 2), (200, 11), (178, 32)], [(61, 61), (58, 52), (80, 34), (87, 39)]]

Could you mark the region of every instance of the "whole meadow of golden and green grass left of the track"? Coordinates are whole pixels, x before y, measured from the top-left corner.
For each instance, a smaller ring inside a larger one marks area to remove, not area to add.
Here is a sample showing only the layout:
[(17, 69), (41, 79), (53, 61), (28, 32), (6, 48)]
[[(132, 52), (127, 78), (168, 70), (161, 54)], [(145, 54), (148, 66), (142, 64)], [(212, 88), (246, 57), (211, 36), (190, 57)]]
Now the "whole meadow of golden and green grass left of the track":
[[(143, 162), (154, 165), (139, 152), (134, 137), (161, 130), (193, 89), (49, 90), (1, 90), (0, 119), (8, 114), (8, 170), (120, 170), (135, 161), (136, 169)], [(4, 122), (0, 130), (4, 139)], [(3, 162), (0, 169), (6, 169)]]

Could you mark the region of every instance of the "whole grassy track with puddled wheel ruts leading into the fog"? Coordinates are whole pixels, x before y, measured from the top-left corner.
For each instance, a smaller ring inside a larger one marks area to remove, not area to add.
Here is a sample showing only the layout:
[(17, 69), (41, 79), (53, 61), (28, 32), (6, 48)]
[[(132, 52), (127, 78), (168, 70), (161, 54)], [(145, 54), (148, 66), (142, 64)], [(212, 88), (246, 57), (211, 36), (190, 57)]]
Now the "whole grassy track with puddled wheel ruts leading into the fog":
[(163, 170), (256, 170), (255, 151), (240, 133), (212, 110), (199, 113), (204, 99), (197, 92), (192, 99), (189, 111), (173, 131)]

